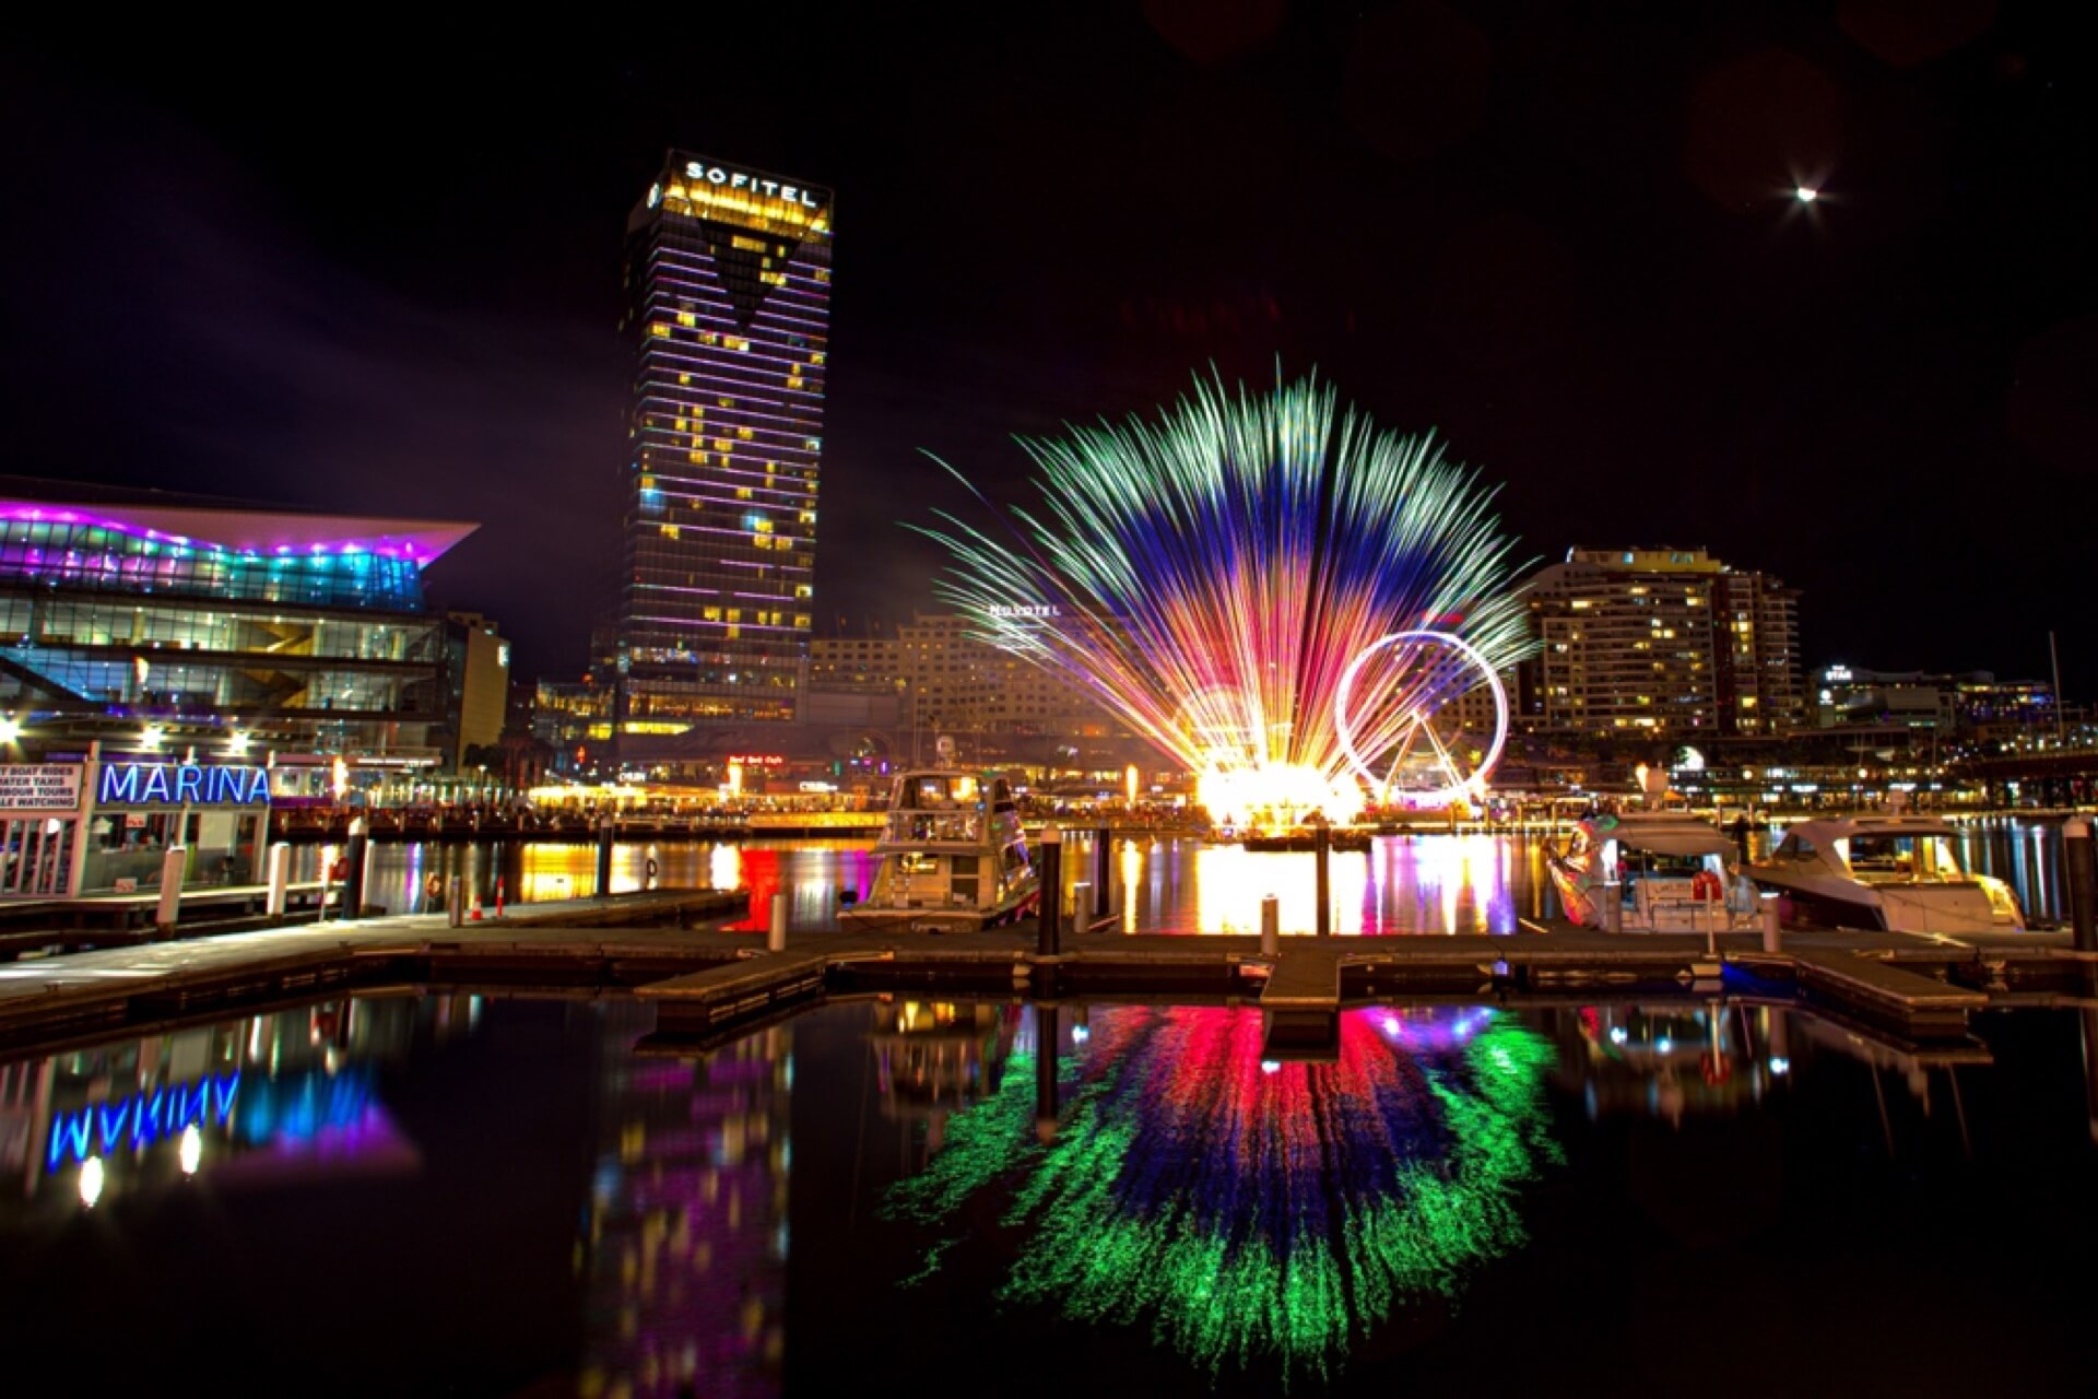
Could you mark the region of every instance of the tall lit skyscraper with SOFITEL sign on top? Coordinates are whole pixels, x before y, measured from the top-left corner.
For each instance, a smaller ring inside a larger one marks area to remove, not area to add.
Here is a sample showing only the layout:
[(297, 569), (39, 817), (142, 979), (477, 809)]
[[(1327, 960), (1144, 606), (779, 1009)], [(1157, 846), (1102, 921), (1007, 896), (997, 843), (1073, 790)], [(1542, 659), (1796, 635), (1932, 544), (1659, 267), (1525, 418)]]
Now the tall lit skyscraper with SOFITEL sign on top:
[(634, 415), (623, 761), (799, 717), (831, 319), (831, 191), (671, 151), (627, 218)]

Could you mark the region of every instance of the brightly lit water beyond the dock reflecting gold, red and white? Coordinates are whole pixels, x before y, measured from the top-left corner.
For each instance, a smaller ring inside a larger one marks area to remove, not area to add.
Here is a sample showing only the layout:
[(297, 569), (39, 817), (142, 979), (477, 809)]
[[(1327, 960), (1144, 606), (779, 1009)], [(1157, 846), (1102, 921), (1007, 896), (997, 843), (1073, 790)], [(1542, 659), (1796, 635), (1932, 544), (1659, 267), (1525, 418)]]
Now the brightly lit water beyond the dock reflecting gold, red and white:
[[(1777, 833), (1758, 833), (1758, 854)], [(1960, 831), (1970, 868), (2010, 881), (2027, 914), (2067, 919), (2060, 822), (1976, 822)], [(462, 875), (493, 908), (495, 881), (512, 902), (590, 894), (596, 881), (592, 845), (373, 845), (367, 900), (390, 910), (420, 910), (432, 873)], [(753, 917), (764, 929), (772, 894), (789, 896), (791, 927), (833, 927), (839, 898), (864, 898), (875, 858), (854, 841), (747, 841), (621, 845), (613, 887), (638, 889), (644, 862), (657, 860), (661, 883), (751, 889)], [(1544, 873), (1542, 835), (1414, 835), (1378, 837), (1368, 854), (1334, 854), (1328, 866), (1339, 933), (1513, 933), (1521, 919), (1561, 917)], [(296, 879), (315, 879), (334, 847), (300, 847)], [(1108, 883), (1127, 931), (1259, 933), (1261, 900), (1280, 900), (1284, 931), (1311, 931), (1315, 921), (1315, 858), (1288, 852), (1246, 852), (1198, 839), (1118, 839), (1108, 854)], [(1066, 845), (1066, 877), (1097, 885), (1097, 856), (1085, 835)]]

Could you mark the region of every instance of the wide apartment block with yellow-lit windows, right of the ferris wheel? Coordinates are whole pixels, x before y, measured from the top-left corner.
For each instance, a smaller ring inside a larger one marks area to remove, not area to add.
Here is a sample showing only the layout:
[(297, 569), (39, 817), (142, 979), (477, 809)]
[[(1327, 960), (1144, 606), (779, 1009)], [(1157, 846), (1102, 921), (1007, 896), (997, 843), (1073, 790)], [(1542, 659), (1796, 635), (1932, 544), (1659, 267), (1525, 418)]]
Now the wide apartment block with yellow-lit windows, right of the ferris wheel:
[(1704, 550), (1569, 550), (1523, 587), (1525, 717), (1584, 736), (1781, 734), (1804, 722), (1798, 591)]

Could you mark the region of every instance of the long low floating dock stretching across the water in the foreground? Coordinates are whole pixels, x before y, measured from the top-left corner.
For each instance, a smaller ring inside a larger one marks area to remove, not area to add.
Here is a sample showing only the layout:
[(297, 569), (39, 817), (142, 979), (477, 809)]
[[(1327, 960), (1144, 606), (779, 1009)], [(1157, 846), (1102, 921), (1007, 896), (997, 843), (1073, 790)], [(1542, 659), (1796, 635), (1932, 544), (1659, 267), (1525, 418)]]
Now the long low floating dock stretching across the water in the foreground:
[[(451, 927), (443, 914), (227, 933), (0, 967), (0, 1045), (151, 1032), (336, 994), (485, 988), (636, 994), (667, 1034), (709, 1042), (827, 996), (1208, 1000), (1271, 1011), (1278, 1049), (1318, 1057), (1347, 1005), (1588, 1003), (1611, 994), (1804, 1000), (1907, 1038), (1966, 1032), (1981, 1009), (2083, 1005), (2090, 959), (2069, 933), (1611, 935), (1525, 923), (1517, 933), (1259, 938), (1066, 933), (1018, 923), (963, 935), (801, 929), (768, 950), (745, 891), (657, 889), (533, 904)], [(678, 927), (684, 923), (686, 927)], [(1286, 1040), (1286, 1045), (1284, 1045)]]

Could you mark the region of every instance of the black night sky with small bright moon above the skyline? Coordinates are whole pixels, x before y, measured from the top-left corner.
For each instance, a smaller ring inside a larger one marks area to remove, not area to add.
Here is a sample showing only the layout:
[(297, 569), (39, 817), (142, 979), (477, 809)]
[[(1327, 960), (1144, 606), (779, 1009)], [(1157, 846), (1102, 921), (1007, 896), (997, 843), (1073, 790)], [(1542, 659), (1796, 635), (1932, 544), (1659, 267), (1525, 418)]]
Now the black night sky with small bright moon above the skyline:
[[(818, 627), (1011, 434), (1318, 369), (1525, 558), (1706, 545), (1808, 663), (2098, 698), (2075, 6), (692, 6), (0, 48), (0, 470), (480, 520), (430, 571), (575, 673), (667, 147), (837, 191)], [(260, 57), (271, 55), (271, 57)], [(1823, 197), (1792, 197), (1813, 182)]]

